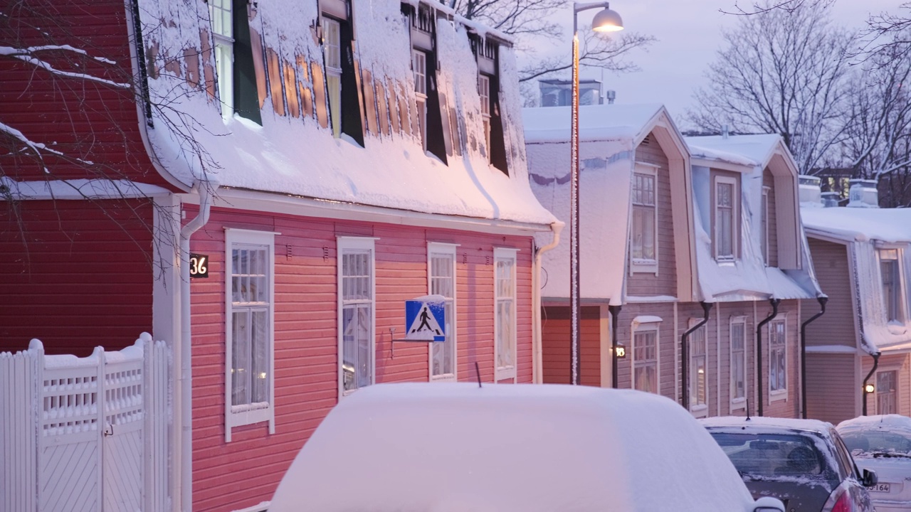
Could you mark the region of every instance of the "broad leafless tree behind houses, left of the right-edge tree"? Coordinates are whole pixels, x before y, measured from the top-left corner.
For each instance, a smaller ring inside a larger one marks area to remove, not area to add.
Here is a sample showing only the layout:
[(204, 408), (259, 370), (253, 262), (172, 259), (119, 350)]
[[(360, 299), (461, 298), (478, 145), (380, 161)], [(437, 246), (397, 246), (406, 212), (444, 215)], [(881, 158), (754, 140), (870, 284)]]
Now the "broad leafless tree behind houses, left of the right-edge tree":
[(817, 169), (844, 136), (855, 35), (822, 5), (803, 5), (744, 16), (723, 38), (689, 120), (701, 130), (781, 134), (802, 172)]

